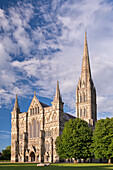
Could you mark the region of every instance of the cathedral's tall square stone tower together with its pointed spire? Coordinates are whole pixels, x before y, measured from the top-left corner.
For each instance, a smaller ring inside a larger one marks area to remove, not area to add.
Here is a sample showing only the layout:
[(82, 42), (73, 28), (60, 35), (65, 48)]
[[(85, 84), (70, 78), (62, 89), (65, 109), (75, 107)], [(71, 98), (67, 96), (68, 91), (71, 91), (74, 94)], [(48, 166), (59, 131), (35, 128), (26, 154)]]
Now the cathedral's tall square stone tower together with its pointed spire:
[(76, 116), (93, 127), (97, 121), (96, 89), (91, 76), (86, 32), (81, 77), (76, 88)]

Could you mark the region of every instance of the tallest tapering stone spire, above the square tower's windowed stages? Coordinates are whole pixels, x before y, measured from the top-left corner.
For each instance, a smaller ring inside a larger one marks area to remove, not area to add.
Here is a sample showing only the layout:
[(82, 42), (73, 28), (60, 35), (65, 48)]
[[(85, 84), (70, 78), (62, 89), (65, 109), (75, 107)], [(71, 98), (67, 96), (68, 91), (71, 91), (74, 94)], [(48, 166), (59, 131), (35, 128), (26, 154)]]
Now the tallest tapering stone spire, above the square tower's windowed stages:
[(88, 53), (88, 45), (87, 45), (87, 33), (85, 32), (85, 41), (84, 41), (84, 51), (83, 51), (83, 60), (82, 60), (82, 71), (81, 71), (82, 82), (87, 84), (87, 82), (91, 79), (91, 69), (89, 62), (89, 53)]

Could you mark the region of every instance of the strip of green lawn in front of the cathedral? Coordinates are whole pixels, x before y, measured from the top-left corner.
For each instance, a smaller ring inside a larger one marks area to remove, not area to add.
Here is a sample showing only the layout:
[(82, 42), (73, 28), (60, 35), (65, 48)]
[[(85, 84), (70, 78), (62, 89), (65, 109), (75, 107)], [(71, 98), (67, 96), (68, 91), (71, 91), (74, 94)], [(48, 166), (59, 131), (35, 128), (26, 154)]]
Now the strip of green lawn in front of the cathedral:
[(37, 167), (37, 164), (21, 164), (21, 163), (0, 163), (0, 170), (110, 170), (113, 165), (108, 164), (51, 164), (48, 167)]

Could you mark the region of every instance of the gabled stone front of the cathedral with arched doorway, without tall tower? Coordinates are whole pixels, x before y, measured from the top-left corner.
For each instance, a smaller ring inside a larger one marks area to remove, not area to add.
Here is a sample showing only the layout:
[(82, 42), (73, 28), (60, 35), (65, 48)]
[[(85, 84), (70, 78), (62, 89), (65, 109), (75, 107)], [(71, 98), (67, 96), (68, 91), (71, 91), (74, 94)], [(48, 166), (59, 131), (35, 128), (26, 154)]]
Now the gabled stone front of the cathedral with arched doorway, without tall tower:
[(52, 106), (39, 102), (34, 93), (28, 111), (21, 113), (16, 95), (11, 112), (12, 162), (59, 162), (55, 140), (65, 122), (75, 118), (64, 113), (63, 104), (58, 82)]

